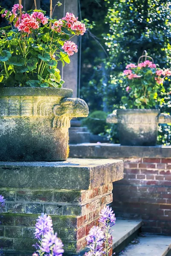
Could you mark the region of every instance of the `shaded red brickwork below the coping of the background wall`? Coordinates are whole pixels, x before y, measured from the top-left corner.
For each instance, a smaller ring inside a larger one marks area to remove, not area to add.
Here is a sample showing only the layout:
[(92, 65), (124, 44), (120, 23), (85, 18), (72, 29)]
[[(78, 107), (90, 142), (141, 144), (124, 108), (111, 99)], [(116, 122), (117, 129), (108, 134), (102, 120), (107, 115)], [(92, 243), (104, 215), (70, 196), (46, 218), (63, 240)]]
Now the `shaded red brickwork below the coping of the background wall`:
[(125, 158), (124, 179), (113, 184), (116, 216), (142, 218), (142, 230), (171, 234), (171, 158)]

